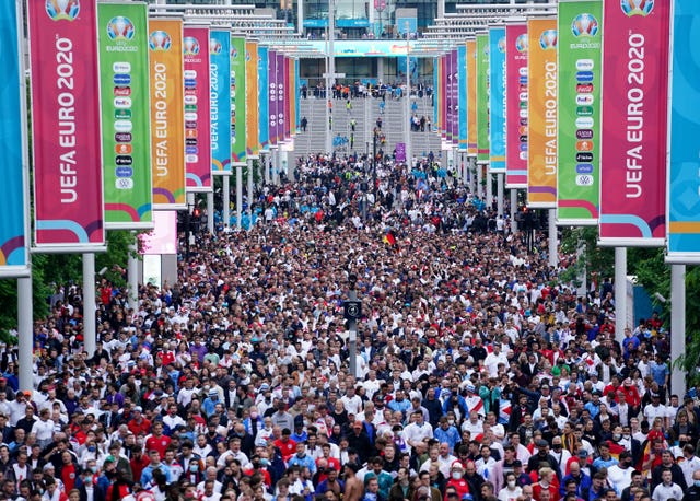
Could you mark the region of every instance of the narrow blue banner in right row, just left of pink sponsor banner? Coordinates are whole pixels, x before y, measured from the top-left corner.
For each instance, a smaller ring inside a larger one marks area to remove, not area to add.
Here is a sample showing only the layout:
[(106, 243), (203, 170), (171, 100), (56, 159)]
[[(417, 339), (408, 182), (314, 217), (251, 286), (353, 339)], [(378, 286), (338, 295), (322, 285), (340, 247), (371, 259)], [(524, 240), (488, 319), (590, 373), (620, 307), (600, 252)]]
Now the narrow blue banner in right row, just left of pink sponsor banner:
[(505, 27), (489, 28), (489, 171), (505, 172)]

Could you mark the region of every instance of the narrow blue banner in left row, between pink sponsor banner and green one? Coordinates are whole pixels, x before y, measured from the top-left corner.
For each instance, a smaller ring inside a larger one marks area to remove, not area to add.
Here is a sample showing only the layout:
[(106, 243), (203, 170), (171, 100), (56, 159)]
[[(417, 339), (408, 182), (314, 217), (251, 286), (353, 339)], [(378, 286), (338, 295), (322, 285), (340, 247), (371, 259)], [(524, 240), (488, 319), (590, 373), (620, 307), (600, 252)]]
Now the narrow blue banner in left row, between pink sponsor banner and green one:
[(231, 32), (209, 32), (211, 172), (231, 173)]

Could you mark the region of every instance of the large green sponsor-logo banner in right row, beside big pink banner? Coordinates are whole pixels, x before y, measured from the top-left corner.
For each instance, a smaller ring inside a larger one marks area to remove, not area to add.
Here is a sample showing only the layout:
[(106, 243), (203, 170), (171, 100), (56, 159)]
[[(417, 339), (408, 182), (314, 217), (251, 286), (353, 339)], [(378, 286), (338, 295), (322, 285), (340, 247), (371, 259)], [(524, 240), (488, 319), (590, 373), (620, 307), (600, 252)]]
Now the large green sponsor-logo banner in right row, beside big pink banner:
[(559, 3), (559, 224), (598, 222), (603, 2)]

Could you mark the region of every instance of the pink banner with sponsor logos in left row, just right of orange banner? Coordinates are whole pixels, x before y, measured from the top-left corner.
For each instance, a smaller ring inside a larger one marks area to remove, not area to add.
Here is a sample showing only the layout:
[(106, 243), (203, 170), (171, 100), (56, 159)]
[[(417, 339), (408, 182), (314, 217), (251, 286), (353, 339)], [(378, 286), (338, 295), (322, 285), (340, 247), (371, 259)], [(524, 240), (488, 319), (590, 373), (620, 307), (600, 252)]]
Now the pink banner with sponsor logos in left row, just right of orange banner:
[(211, 191), (209, 28), (185, 26), (183, 34), (187, 191)]

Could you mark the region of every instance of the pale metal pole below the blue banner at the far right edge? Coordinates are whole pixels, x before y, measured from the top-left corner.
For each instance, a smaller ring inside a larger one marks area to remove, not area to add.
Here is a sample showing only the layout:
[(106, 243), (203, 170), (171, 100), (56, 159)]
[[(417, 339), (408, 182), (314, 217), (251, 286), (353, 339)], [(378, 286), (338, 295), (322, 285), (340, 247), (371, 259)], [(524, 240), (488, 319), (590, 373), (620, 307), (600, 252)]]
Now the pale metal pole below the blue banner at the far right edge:
[[(686, 265), (670, 265), (670, 360), (686, 352)], [(670, 393), (682, 400), (686, 394), (686, 373), (670, 371)], [(670, 395), (670, 393), (666, 393)]]

